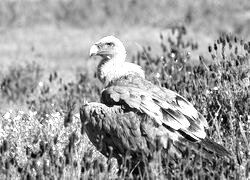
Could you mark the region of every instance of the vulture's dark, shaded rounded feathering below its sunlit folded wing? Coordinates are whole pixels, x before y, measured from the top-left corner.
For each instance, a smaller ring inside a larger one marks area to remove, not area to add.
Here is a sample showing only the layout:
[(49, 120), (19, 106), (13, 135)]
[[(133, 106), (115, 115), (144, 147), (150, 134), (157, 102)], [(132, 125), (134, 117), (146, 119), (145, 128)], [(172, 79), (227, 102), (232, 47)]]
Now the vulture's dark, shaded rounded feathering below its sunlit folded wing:
[(108, 107), (102, 103), (87, 103), (80, 108), (82, 125), (91, 142), (109, 157), (110, 147), (117, 158), (127, 151), (148, 154), (148, 140), (141, 132), (142, 116), (121, 106)]

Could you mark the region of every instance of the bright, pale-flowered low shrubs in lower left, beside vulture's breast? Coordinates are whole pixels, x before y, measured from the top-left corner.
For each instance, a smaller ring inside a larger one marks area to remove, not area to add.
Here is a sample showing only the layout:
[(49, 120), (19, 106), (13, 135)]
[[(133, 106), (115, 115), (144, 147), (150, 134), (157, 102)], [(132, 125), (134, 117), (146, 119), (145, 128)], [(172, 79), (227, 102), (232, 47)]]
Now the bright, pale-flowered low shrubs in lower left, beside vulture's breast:
[(42, 123), (36, 113), (8, 111), (2, 114), (1, 179), (79, 179), (112, 173), (107, 172), (103, 157), (81, 134), (77, 115), (65, 126), (60, 112), (48, 114)]

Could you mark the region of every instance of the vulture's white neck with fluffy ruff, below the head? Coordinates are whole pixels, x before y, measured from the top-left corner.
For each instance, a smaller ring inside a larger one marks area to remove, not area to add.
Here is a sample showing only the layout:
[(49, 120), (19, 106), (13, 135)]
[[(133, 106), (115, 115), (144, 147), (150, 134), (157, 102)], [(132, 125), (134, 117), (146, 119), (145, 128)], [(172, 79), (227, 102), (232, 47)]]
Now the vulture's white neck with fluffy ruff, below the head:
[(116, 79), (134, 74), (145, 78), (142, 68), (136, 64), (125, 62), (126, 54), (120, 56), (103, 57), (97, 68), (99, 80), (107, 86)]

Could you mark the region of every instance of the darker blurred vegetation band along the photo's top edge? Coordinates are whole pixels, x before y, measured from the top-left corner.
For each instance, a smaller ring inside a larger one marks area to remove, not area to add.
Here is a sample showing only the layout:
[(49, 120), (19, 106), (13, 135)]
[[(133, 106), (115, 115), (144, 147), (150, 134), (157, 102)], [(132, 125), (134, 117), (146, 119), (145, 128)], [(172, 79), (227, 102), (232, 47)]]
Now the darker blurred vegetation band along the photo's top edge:
[[(124, 22), (131, 26), (150, 24), (166, 27), (173, 21), (181, 20), (188, 24), (198, 23), (197, 26), (199, 26), (203, 21), (200, 17), (206, 17), (206, 20), (212, 19), (213, 21), (210, 23), (217, 25), (220, 23), (218, 21), (224, 21), (228, 16), (232, 18), (231, 22), (227, 20), (229, 24), (238, 20), (238, 17), (232, 16), (231, 13), (242, 7), (247, 9), (248, 6), (249, 4), (245, 0), (239, 0), (233, 6), (226, 0), (221, 2), (187, 0), (185, 3), (181, 0), (4, 0), (0, 2), (0, 25), (36, 26), (56, 22), (58, 25), (86, 27), (90, 24), (99, 26), (106, 23), (121, 25), (120, 22)], [(29, 11), (24, 11), (24, 8), (28, 8)], [(213, 19), (214, 15), (218, 19)], [(244, 19), (242, 20), (244, 21)], [(236, 31), (242, 31), (241, 25), (240, 21), (238, 24), (234, 24), (235, 28), (238, 28)]]

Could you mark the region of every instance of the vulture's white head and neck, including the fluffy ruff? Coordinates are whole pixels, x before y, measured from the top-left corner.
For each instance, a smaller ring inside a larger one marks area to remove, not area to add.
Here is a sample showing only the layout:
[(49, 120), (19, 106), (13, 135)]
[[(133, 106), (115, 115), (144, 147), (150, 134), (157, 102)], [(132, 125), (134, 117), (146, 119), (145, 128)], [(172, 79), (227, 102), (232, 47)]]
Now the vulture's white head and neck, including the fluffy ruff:
[(102, 61), (97, 68), (97, 75), (105, 86), (109, 82), (128, 74), (145, 77), (140, 66), (125, 61), (126, 50), (122, 42), (114, 36), (107, 36), (92, 45), (89, 55), (90, 57), (96, 55), (102, 57)]

